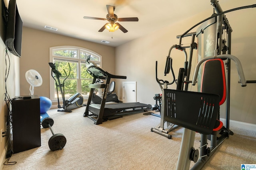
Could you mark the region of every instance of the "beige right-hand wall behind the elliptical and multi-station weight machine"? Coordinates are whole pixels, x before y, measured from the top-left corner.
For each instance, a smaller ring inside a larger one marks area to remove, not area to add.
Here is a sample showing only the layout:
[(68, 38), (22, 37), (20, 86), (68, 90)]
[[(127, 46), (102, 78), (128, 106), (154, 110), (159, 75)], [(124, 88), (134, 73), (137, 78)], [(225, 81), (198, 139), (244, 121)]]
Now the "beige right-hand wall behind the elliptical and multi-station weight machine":
[[(221, 3), (223, 10), (255, 4), (254, 0), (232, 1)], [(210, 5), (210, 4), (209, 4)], [(137, 82), (137, 102), (154, 105), (154, 94), (161, 93), (155, 80), (155, 62), (158, 61), (158, 75), (160, 79), (172, 80), (170, 75), (164, 77), (164, 64), (168, 51), (173, 44), (177, 44), (176, 35), (181, 35), (190, 27), (211, 16), (212, 11), (206, 11), (190, 16), (187, 20), (178, 21), (168, 27), (152, 32), (144, 37), (130, 41), (116, 48), (116, 73), (126, 75), (126, 81)], [(233, 29), (232, 32), (232, 55), (240, 59), (246, 80), (256, 80), (256, 16), (255, 8), (239, 10), (226, 14)], [(196, 28), (190, 32), (196, 31)], [(186, 42), (187, 41), (187, 42)], [(190, 43), (186, 38), (182, 43)], [(178, 69), (183, 66), (184, 54), (172, 50), (173, 68), (178, 76)], [(194, 60), (196, 59), (194, 55)], [(194, 64), (192, 64), (194, 66)], [(256, 84), (248, 84), (241, 87), (238, 84), (236, 66), (231, 66), (231, 89), (230, 89), (230, 119), (245, 123), (256, 124)], [(194, 69), (192, 70), (194, 72)], [(192, 80), (190, 78), (190, 80)], [(123, 80), (117, 80), (122, 84)], [(169, 86), (176, 89), (176, 85)], [(192, 88), (192, 90), (194, 87)], [(221, 106), (221, 117), (224, 117), (225, 104)]]

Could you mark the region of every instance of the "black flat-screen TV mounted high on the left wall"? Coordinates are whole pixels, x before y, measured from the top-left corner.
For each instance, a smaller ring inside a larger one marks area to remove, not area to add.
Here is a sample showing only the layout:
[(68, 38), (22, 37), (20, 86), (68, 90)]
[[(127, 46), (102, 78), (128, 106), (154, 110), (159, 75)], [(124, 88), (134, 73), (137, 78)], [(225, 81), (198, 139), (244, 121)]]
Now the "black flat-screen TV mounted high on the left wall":
[(21, 57), (21, 39), (22, 39), (22, 25), (16, 0), (10, 0), (8, 6), (8, 17), (6, 27), (5, 45), (8, 50)]

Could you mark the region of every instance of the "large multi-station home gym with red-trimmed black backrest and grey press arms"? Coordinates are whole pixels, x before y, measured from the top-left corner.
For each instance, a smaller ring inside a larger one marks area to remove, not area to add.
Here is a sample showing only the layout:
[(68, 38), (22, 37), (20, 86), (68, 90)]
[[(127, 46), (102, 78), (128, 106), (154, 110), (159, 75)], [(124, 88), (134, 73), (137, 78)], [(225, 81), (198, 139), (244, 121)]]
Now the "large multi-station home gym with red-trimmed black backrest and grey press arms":
[[(211, 0), (214, 13), (211, 17), (194, 25), (200, 25), (196, 31), (198, 38), (198, 64), (191, 81), (192, 85), (198, 82), (198, 92), (163, 89), (162, 113), (164, 119), (176, 125), (185, 127), (177, 163), (177, 170), (188, 170), (190, 161), (195, 164), (192, 170), (201, 169), (214, 154), (221, 143), (234, 133), (229, 129), (230, 107), (230, 62), (234, 61), (238, 71), (239, 83), (242, 87), (246, 83), (255, 83), (255, 80), (246, 81), (242, 64), (239, 59), (231, 55), (232, 29), (226, 16), (227, 12), (245, 8), (244, 6), (223, 12), (217, 0)], [(203, 42), (203, 43), (202, 43)], [(227, 53), (227, 54), (226, 54)], [(224, 69), (226, 61), (226, 74)], [(204, 63), (204, 67), (200, 67)], [(220, 105), (226, 100), (226, 123), (220, 121)], [(201, 134), (200, 152), (194, 149), (195, 133)], [(207, 147), (210, 140), (210, 147)]]

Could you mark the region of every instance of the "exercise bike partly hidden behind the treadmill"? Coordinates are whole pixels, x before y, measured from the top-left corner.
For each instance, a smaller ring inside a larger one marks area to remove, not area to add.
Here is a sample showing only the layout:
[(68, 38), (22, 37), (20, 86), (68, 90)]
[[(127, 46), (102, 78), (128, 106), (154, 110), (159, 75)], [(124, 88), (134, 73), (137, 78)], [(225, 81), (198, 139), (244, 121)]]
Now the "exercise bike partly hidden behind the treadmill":
[[(103, 81), (97, 79), (96, 83), (103, 83)], [(112, 81), (109, 85), (108, 88), (108, 93), (107, 93), (107, 98), (106, 98), (106, 102), (115, 102), (115, 103), (121, 103), (118, 100), (118, 96), (116, 95), (116, 93), (113, 93), (115, 90), (115, 82)], [(96, 91), (94, 91), (93, 95), (92, 95), (92, 103), (93, 104), (101, 104), (101, 100), (102, 98), (100, 96), (98, 96), (96, 94)]]

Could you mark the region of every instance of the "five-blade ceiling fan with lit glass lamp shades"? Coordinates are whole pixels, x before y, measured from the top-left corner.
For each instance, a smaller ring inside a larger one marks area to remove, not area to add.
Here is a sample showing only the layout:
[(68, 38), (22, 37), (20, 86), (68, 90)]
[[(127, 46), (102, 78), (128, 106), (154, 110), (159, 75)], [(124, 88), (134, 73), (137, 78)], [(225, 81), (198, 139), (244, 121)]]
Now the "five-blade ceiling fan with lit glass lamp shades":
[(106, 15), (106, 18), (96, 18), (96, 17), (86, 17), (84, 16), (84, 19), (92, 19), (92, 20), (107, 20), (109, 23), (106, 23), (99, 32), (104, 31), (104, 29), (108, 29), (110, 32), (116, 31), (118, 28), (121, 29), (124, 33), (127, 33), (127, 29), (125, 29), (120, 23), (116, 23), (116, 21), (138, 21), (139, 19), (137, 17), (131, 17), (131, 18), (118, 18), (116, 14), (114, 14), (115, 7), (111, 5), (106, 5), (108, 14)]

